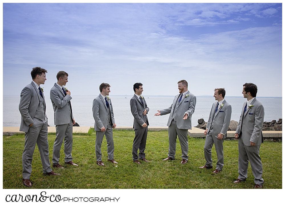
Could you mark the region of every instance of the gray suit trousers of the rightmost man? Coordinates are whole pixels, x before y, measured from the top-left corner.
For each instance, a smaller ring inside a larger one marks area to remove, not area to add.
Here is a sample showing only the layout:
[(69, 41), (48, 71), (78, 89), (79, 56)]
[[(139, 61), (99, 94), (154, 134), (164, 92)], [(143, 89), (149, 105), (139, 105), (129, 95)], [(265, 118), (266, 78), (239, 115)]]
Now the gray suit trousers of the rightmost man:
[(260, 145), (246, 146), (243, 144), (242, 134), (239, 137), (239, 177), (240, 180), (247, 179), (247, 169), (249, 162), (254, 176), (255, 184), (262, 185), (262, 163), (259, 156)]

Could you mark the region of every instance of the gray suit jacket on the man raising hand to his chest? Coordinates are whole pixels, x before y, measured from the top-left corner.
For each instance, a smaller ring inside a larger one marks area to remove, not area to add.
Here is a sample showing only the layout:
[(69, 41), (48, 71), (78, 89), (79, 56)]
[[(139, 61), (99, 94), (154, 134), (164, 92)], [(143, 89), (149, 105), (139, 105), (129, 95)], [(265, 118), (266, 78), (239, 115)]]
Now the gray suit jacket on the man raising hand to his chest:
[(54, 109), (54, 124), (65, 125), (70, 123), (70, 118), (73, 119), (73, 114), (70, 111), (70, 95), (66, 95), (62, 91), (62, 87), (59, 87), (56, 83), (50, 89), (50, 100), (52, 101), (52, 107)]

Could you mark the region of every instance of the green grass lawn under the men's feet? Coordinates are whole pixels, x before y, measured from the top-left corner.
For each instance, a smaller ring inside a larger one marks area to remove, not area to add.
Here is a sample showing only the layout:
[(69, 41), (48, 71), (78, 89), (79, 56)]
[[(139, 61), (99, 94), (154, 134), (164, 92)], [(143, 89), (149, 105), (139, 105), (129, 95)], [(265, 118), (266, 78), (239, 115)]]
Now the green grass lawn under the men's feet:
[[(238, 141), (224, 141), (224, 167), (219, 174), (212, 174), (217, 162), (215, 147), (212, 149), (213, 169), (200, 169), (205, 165), (203, 138), (188, 136), (189, 159), (181, 165), (181, 148), (177, 139), (176, 159), (162, 161), (168, 154), (168, 132), (148, 132), (146, 159), (141, 165), (133, 163), (132, 144), (134, 131), (114, 130), (114, 157), (119, 164), (107, 162), (107, 142), (102, 143), (102, 160), (105, 167), (96, 164), (95, 132), (74, 134), (73, 162), (79, 167), (64, 164), (64, 146), (60, 150), (60, 164), (64, 169), (53, 168), (61, 176), (44, 176), (40, 154), (36, 146), (31, 181), (32, 189), (251, 189), (254, 177), (249, 164), (248, 178), (245, 182), (234, 184), (238, 177)], [(50, 162), (55, 134), (48, 135)], [(24, 135), (3, 136), (3, 189), (28, 188), (22, 181), (22, 153)], [(260, 147), (263, 166), (263, 188), (282, 189), (282, 142), (264, 142)]]

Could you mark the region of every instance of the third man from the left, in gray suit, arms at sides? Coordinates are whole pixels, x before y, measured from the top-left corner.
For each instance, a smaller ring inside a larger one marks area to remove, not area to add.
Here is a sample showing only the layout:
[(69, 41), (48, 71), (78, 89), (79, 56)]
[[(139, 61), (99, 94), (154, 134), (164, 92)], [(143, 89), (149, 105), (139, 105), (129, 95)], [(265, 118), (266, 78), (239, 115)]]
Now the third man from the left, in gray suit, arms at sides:
[(101, 145), (104, 134), (107, 140), (107, 153), (108, 161), (118, 164), (114, 160), (114, 141), (113, 141), (113, 129), (117, 125), (115, 124), (113, 106), (111, 99), (108, 97), (110, 91), (110, 85), (107, 83), (101, 83), (99, 86), (100, 94), (93, 100), (93, 117), (95, 120), (94, 130), (96, 131), (96, 159), (99, 166), (105, 166), (102, 162)]

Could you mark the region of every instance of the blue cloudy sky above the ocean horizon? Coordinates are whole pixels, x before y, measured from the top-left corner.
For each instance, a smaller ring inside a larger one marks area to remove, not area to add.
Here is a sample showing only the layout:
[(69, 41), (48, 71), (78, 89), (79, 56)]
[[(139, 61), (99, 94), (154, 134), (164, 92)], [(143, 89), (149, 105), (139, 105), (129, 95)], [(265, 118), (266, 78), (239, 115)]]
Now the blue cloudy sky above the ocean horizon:
[[(20, 95), (30, 71), (69, 74), (72, 95), (176, 95), (186, 79), (195, 95), (282, 96), (282, 4), (4, 3), (3, 94)], [(11, 84), (12, 82), (12, 84)], [(47, 95), (47, 94), (46, 94)]]

